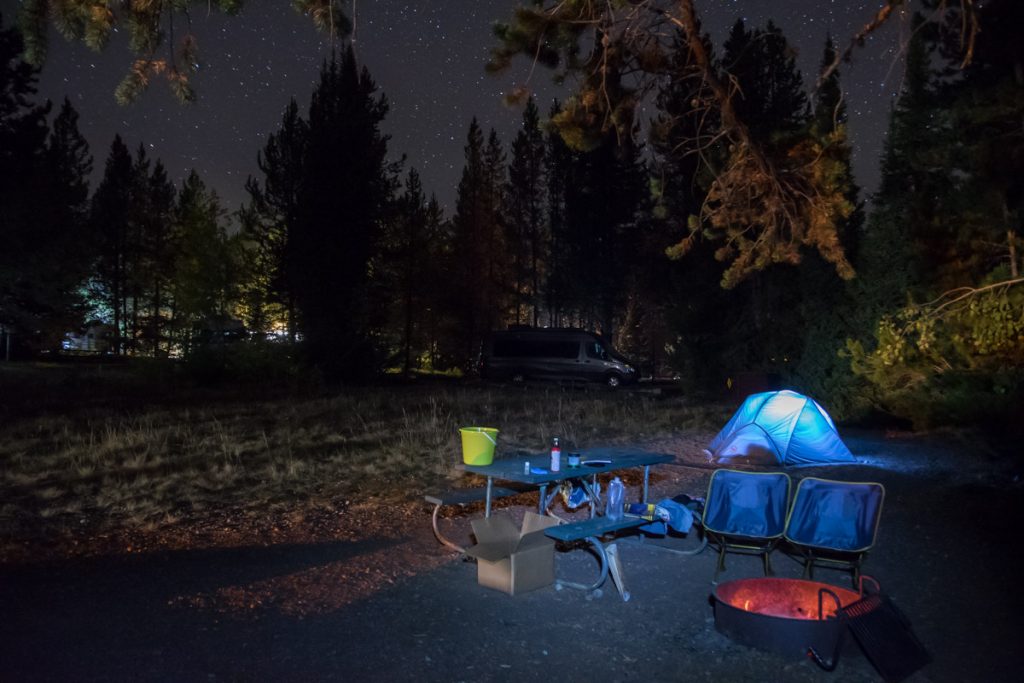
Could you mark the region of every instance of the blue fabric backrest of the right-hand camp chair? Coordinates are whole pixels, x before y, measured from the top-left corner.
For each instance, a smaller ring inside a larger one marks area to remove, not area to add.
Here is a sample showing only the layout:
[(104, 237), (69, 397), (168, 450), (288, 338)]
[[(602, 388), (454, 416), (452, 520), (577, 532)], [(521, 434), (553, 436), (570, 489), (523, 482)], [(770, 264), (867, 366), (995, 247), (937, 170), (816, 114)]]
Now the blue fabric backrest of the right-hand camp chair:
[(885, 486), (872, 481), (801, 479), (785, 539), (799, 546), (863, 552), (874, 545), (885, 497)]

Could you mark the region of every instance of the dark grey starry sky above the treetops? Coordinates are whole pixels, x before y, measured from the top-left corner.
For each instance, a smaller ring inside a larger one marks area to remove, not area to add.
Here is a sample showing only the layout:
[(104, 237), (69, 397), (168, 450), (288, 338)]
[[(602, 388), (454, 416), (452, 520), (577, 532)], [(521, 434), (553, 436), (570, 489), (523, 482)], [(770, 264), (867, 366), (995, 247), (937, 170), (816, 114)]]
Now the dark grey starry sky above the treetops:
[[(14, 23), (20, 0), (0, 0), (4, 25)], [(387, 95), (391, 109), (384, 130), (393, 159), (419, 170), (428, 193), (446, 212), (455, 206), (463, 148), (475, 116), (511, 145), (521, 111), (502, 103), (502, 94), (529, 76), (522, 61), (500, 76), (484, 74), (494, 43), (490, 27), (511, 16), (515, 0), (399, 2), (356, 0), (355, 50)], [(878, 9), (878, 0), (698, 0), (705, 29), (716, 49), (736, 18), (748, 28), (771, 18), (798, 49), (805, 79), (817, 72), (825, 35), (841, 44)], [(348, 3), (352, 7), (352, 3)], [(247, 0), (240, 15), (225, 17), (197, 5), (193, 31), (201, 69), (194, 84), (198, 100), (179, 104), (166, 85), (155, 81), (134, 104), (120, 106), (114, 90), (131, 55), (123, 36), (102, 53), (53, 35), (39, 80), (39, 96), (59, 103), (68, 96), (80, 114), (79, 127), (90, 143), (98, 182), (115, 134), (129, 148), (143, 144), (180, 181), (195, 168), (220, 195), (225, 209), (246, 201), (246, 178), (255, 175), (256, 154), (281, 123), (292, 97), (302, 111), (309, 102), (330, 37), (291, 9), (288, 0)], [(899, 89), (899, 25), (888, 27), (843, 65), (854, 169), (867, 189), (877, 183), (879, 154), (892, 97)], [(529, 78), (542, 114), (567, 90), (538, 70)]]

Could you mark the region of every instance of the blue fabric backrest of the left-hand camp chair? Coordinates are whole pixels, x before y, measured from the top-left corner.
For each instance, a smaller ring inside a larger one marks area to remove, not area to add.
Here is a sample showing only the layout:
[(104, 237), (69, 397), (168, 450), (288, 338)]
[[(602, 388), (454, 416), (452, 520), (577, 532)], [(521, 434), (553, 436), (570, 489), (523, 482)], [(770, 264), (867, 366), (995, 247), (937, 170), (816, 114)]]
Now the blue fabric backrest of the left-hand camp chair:
[(751, 539), (775, 539), (785, 530), (790, 475), (720, 469), (711, 475), (703, 526)]

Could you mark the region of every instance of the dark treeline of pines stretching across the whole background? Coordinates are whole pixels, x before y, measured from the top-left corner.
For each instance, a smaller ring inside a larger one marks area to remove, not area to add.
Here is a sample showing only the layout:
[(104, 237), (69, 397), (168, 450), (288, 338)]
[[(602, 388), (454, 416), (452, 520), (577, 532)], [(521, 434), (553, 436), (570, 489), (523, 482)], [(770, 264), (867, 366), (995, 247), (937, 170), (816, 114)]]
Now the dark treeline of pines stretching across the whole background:
[[(842, 415), (1005, 414), (1024, 360), (1024, 56), (997, 34), (1024, 16), (1004, 0), (981, 17), (965, 70), (955, 12), (913, 34), (869, 213), (840, 72), (811, 92), (775, 26), (735, 24), (715, 68), (736, 85), (736, 116), (827, 188), (799, 249), (722, 223), (742, 222), (722, 188), (743, 179), (712, 182), (729, 151), (695, 105), (707, 85), (682, 40), (644, 143), (583, 125), (586, 88), (544, 115), (526, 101), (511, 141), (469, 122), (451, 216), (393, 161), (387, 99), (344, 49), (308, 105), (284, 110), (232, 217), (196, 173), (175, 186), (120, 138), (90, 195), (78, 114), (34, 101), (35, 71), (0, 27), (0, 325), (39, 349), (98, 319), (117, 352), (163, 356), (238, 318), (341, 381), (472, 372), (490, 330), (583, 327), (691, 389), (757, 372)], [(823, 65), (835, 50), (827, 39)], [(601, 77), (626, 87), (613, 63)]]

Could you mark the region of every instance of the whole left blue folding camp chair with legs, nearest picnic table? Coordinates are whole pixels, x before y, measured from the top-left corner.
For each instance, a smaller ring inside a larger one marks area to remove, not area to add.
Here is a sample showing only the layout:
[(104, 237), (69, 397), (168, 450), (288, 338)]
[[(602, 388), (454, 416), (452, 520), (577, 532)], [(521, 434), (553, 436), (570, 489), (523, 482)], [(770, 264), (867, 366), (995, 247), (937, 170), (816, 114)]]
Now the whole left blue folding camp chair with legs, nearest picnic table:
[(765, 575), (771, 573), (769, 555), (785, 529), (788, 503), (790, 476), (783, 472), (715, 470), (702, 520), (709, 544), (718, 548), (714, 582), (727, 552), (760, 555)]

